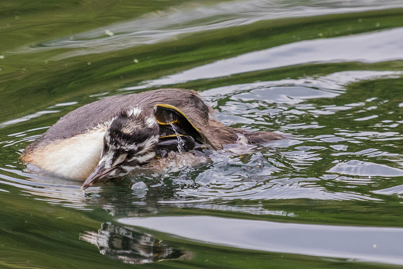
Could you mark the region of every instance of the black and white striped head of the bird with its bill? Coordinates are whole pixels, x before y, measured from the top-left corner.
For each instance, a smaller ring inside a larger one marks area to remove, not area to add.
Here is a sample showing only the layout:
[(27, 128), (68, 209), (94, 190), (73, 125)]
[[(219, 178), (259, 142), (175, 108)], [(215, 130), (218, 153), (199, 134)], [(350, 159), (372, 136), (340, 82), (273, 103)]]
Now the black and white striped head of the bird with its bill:
[(155, 157), (159, 127), (153, 115), (141, 108), (121, 111), (109, 124), (104, 135), (101, 160), (81, 187), (91, 186), (103, 177), (118, 177), (130, 173)]

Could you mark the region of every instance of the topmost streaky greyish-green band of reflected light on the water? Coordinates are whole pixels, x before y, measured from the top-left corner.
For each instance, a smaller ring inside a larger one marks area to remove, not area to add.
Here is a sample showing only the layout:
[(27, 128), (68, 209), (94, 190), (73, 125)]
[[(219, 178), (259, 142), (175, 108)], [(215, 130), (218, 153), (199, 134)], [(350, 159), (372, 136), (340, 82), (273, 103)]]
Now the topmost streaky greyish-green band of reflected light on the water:
[[(53, 58), (62, 59), (159, 43), (172, 38), (180, 38), (181, 35), (185, 36), (184, 34), (248, 25), (263, 20), (364, 12), (398, 7), (402, 7), (402, 4), (396, 0), (382, 2), (362, 0), (348, 2), (341, 0), (302, 2), (249, 0), (230, 1), (208, 6), (192, 3), (158, 13), (149, 13), (125, 23), (112, 24), (33, 47), (22, 48), (18, 50), (18, 53), (76, 48), (74, 51), (61, 53)], [(360, 48), (365, 45), (366, 43), (360, 43)], [(340, 49), (339, 52), (341, 51), (347, 50)]]

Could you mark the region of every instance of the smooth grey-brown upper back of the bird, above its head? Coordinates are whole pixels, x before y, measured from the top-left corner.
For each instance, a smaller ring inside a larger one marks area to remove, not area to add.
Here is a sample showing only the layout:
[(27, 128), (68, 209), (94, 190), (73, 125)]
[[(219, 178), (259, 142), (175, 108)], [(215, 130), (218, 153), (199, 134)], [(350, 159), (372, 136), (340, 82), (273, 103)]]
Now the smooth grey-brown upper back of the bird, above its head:
[(65, 139), (84, 133), (112, 119), (119, 111), (141, 107), (146, 114), (152, 114), (156, 104), (170, 104), (192, 118), (197, 125), (209, 119), (209, 107), (200, 96), (191, 90), (161, 89), (138, 94), (112, 96), (84, 105), (60, 118), (50, 127), (44, 137), (49, 140)]

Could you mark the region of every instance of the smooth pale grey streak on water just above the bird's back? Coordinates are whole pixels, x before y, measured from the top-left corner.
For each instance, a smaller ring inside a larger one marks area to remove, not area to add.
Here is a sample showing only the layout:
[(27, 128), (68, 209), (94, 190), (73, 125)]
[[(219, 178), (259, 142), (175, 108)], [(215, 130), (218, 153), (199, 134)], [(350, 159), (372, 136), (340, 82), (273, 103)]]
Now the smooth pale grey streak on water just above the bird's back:
[(382, 62), (403, 59), (403, 28), (337, 38), (304, 40), (249, 52), (146, 81), (125, 90), (172, 85), (307, 63)]

